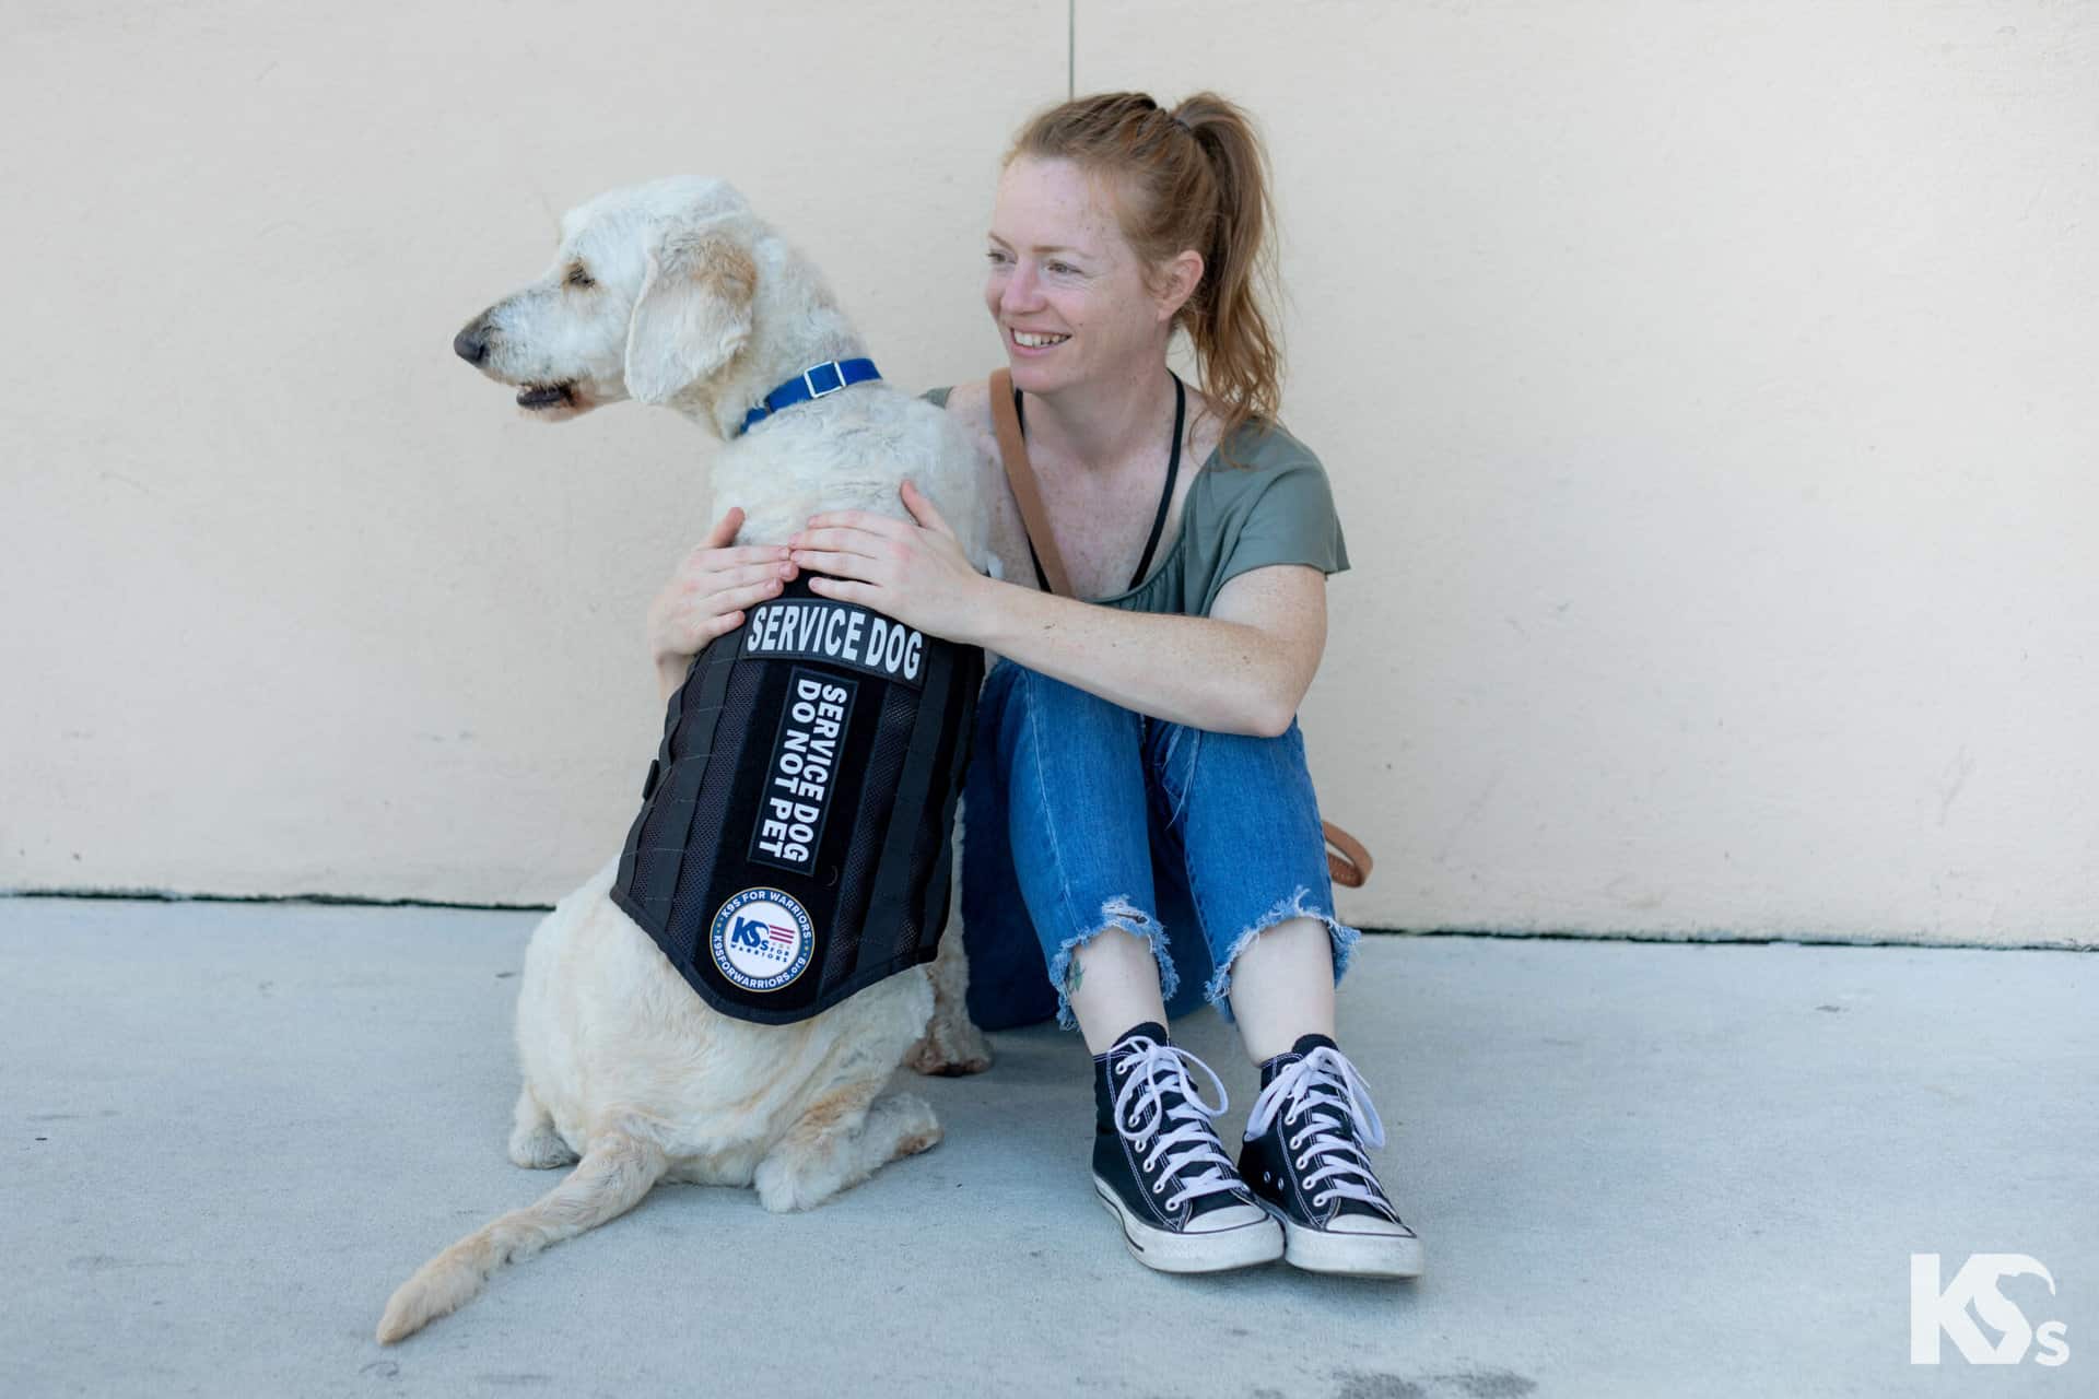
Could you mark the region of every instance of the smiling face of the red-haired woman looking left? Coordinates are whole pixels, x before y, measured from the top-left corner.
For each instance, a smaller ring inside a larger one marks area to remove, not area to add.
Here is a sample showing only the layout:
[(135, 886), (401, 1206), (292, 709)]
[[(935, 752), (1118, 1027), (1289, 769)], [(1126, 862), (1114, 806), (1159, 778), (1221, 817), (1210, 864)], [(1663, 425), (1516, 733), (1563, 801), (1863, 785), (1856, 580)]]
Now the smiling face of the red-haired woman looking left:
[(1171, 306), (1146, 289), (1104, 191), (1073, 162), (1005, 166), (987, 247), (984, 306), (1026, 392), (1165, 363)]

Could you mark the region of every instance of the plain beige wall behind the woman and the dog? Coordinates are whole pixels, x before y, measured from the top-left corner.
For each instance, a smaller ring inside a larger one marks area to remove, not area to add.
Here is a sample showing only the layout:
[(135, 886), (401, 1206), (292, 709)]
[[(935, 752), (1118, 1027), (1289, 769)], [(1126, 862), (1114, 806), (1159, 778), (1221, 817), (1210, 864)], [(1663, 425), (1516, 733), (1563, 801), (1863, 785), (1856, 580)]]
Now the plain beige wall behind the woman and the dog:
[[(760, 19), (760, 15), (764, 15)], [(890, 378), (1066, 6), (10, 13), (0, 887), (550, 902), (657, 740), (705, 445), (453, 329), (726, 174)], [(1268, 126), (1356, 568), (1303, 707), (1379, 927), (2093, 942), (2099, 15), (1100, 4)]]

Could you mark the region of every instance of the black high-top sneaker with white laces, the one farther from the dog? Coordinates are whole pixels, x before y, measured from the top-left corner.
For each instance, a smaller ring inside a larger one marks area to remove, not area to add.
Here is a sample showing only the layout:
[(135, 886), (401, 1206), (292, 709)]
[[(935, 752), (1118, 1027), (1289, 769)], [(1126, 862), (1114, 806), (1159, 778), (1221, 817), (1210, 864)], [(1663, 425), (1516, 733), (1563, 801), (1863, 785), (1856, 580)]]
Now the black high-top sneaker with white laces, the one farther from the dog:
[(1371, 1172), (1385, 1145), (1369, 1084), (1324, 1034), (1261, 1063), (1238, 1172), (1282, 1223), (1285, 1258), (1314, 1273), (1419, 1277), (1421, 1240)]

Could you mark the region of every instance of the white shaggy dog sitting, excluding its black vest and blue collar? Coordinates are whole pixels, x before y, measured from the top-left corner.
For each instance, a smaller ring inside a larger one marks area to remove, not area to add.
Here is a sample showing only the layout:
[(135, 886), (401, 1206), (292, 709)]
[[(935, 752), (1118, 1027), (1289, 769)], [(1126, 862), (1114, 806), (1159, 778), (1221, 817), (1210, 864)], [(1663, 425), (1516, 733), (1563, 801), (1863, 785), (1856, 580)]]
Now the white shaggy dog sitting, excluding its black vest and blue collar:
[[(821, 275), (728, 185), (611, 191), (569, 212), (560, 233), (546, 275), (455, 342), (518, 386), (527, 413), (560, 422), (634, 399), (705, 424), (726, 443), (707, 518), (722, 501), (743, 505), (743, 543), (785, 543), (819, 510), (903, 516), (909, 474), (963, 554), (995, 568), (984, 482), (997, 476), (940, 409), (861, 384), (737, 436), (770, 388), (865, 350)], [(611, 902), (617, 864), (539, 921), (518, 986), (525, 1086), (510, 1160), (575, 1170), (409, 1277), (386, 1305), (382, 1342), (458, 1309), (502, 1263), (621, 1214), (661, 1179), (756, 1185), (768, 1210), (821, 1204), (940, 1139), (924, 1099), (882, 1097), (907, 1053), (921, 1072), (991, 1063), (961, 1005), (959, 887), (932, 975), (911, 969), (812, 1019), (758, 1026), (707, 1007)], [(953, 870), (959, 885), (959, 858)]]

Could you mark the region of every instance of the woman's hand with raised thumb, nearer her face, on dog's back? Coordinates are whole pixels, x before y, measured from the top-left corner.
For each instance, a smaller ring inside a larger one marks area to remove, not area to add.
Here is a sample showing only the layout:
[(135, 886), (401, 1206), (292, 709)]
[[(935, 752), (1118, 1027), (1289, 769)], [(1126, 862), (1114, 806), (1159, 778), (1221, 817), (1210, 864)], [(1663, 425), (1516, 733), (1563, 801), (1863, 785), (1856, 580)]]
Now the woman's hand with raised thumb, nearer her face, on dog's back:
[(984, 619), (989, 579), (970, 566), (955, 531), (924, 491), (907, 480), (898, 495), (911, 520), (865, 510), (814, 514), (808, 529), (789, 535), (789, 558), (831, 575), (808, 581), (823, 598), (858, 602), (907, 627), (972, 642)]

